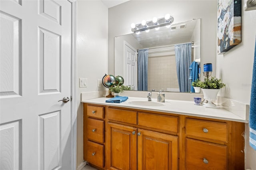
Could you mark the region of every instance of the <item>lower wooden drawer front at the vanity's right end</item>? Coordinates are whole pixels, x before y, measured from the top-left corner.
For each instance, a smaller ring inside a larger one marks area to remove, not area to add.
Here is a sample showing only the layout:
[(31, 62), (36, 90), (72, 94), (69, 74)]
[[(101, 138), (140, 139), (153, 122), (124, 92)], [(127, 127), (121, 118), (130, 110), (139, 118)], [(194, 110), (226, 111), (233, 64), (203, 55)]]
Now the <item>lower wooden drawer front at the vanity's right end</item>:
[(226, 170), (227, 146), (186, 138), (186, 170)]

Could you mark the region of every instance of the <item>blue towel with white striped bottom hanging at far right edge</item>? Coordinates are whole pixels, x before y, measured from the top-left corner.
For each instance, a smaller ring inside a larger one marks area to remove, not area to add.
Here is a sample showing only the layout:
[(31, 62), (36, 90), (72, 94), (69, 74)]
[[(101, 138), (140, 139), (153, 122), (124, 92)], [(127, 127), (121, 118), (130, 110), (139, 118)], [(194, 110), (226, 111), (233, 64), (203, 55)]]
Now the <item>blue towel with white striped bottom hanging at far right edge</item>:
[(252, 71), (252, 89), (251, 89), (251, 101), (250, 101), (250, 139), (249, 143), (254, 150), (256, 150), (256, 42), (254, 50), (254, 63)]

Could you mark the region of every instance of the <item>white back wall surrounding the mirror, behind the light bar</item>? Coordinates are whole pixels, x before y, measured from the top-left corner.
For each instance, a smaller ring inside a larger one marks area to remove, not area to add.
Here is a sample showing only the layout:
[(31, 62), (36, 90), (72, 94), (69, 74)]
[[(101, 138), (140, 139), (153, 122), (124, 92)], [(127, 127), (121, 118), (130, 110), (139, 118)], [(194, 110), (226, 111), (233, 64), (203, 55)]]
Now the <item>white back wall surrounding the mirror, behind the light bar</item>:
[(167, 13), (174, 17), (174, 24), (202, 18), (201, 63), (212, 63), (216, 73), (216, 9), (216, 0), (132, 0), (109, 8), (108, 73), (114, 74), (114, 37), (132, 33), (131, 23), (161, 18)]

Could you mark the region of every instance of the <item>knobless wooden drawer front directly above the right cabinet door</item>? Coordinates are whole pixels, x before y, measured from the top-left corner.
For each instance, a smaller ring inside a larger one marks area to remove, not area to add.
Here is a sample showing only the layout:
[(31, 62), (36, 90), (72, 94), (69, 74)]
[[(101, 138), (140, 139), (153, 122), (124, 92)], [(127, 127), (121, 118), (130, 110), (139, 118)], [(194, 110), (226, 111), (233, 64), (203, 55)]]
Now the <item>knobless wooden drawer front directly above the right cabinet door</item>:
[(138, 125), (178, 132), (178, 117), (138, 113)]

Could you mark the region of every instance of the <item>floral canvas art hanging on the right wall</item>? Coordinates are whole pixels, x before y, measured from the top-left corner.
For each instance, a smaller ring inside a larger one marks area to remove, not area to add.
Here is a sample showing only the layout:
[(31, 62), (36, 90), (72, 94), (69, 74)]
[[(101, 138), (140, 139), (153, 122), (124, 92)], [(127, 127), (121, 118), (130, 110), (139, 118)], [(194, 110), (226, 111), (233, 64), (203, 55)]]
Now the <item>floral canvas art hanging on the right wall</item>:
[(218, 0), (218, 54), (241, 42), (242, 1)]

